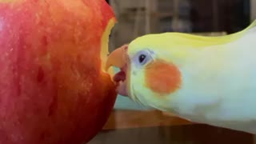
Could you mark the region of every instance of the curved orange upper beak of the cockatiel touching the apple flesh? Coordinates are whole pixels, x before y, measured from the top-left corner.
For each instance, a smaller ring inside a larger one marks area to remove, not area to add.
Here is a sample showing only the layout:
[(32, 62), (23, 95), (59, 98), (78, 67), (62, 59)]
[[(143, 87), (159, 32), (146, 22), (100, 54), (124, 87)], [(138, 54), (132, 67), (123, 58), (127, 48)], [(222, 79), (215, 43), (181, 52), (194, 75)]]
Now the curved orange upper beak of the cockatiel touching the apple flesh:
[(107, 71), (110, 68), (110, 66), (116, 66), (118, 68), (122, 68), (123, 66), (126, 66), (127, 49), (128, 49), (128, 45), (124, 45), (114, 50), (112, 53), (110, 53), (110, 55), (106, 59), (105, 70)]

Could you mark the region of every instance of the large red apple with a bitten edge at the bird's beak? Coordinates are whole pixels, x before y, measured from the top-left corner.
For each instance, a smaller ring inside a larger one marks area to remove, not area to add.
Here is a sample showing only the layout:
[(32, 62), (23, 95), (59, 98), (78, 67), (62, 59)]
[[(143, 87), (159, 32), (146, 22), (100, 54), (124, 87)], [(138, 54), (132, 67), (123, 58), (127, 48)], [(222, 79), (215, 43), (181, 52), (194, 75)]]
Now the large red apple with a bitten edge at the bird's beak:
[(79, 144), (117, 94), (102, 69), (114, 13), (104, 0), (0, 0), (0, 143)]

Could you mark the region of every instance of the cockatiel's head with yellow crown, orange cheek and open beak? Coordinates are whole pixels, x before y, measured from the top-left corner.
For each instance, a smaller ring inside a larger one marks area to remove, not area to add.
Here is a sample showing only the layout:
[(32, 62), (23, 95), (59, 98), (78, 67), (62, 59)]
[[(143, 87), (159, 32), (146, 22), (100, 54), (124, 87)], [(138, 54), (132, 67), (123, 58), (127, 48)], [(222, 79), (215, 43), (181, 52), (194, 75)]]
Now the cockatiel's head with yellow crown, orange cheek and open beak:
[[(148, 34), (114, 50), (106, 69), (120, 68), (114, 75), (118, 94), (129, 96), (144, 106), (159, 108), (170, 102), (182, 88), (181, 67), (190, 54), (179, 37), (177, 34)], [(162, 106), (157, 106), (159, 104)]]

